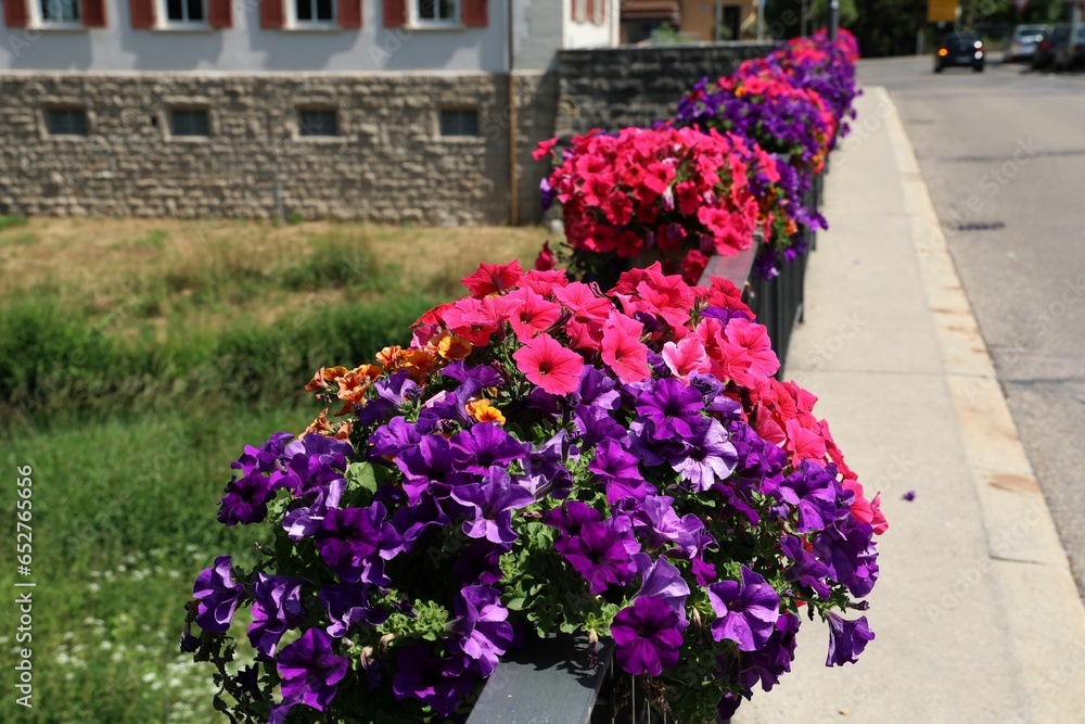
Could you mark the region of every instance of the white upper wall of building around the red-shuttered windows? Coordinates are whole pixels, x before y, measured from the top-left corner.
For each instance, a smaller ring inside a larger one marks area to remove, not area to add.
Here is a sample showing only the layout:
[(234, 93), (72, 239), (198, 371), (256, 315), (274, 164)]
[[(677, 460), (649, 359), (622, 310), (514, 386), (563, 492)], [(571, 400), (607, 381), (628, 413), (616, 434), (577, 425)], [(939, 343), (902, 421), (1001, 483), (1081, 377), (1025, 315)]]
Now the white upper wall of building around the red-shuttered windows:
[[(40, 2), (40, 0), (29, 0)], [(222, 30), (135, 29), (127, 0), (106, 0), (105, 28), (7, 28), (0, 71), (483, 71), (507, 64), (506, 0), (490, 0), (485, 28), (385, 28), (380, 0), (362, 3), (361, 28), (265, 30), (255, 0), (234, 0)], [(0, 101), (2, 102), (2, 101)]]

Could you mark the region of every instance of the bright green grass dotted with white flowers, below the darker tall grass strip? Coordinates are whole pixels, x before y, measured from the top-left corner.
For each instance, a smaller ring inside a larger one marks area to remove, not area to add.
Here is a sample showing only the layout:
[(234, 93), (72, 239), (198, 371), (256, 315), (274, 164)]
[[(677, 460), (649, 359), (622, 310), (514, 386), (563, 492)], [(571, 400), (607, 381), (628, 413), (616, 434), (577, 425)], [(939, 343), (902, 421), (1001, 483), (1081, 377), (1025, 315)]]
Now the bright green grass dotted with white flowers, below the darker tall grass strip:
[[(29, 465), (34, 480), (38, 713), (13, 721), (163, 722), (167, 711), (171, 723), (217, 721), (212, 670), (177, 648), (183, 605), (216, 555), (252, 546), (252, 530), (215, 520), (230, 460), (246, 441), (301, 429), (311, 412), (166, 408), (0, 436), (5, 467)], [(0, 528), (14, 519), (8, 499)], [(9, 590), (11, 573), (0, 573)], [(0, 650), (14, 647), (0, 630)], [(18, 709), (10, 703), (5, 712)]]

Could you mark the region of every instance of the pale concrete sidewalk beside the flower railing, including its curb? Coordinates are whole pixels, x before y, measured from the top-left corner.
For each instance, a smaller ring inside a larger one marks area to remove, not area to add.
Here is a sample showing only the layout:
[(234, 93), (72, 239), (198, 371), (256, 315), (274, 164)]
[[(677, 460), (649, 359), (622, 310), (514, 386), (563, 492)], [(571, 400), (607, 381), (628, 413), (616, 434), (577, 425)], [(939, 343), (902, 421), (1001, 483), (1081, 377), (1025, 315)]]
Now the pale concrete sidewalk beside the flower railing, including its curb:
[(865, 90), (788, 374), (882, 492), (877, 638), (827, 669), (827, 628), (804, 621), (792, 673), (732, 721), (1085, 722), (1085, 609), (904, 127)]

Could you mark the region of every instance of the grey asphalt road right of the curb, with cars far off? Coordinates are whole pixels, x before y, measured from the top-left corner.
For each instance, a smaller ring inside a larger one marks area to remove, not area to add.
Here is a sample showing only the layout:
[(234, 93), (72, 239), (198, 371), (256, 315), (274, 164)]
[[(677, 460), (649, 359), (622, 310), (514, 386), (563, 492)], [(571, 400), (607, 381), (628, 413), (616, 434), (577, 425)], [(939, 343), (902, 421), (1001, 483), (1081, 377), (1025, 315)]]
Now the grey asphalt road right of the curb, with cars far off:
[(931, 68), (863, 61), (859, 80), (901, 112), (1085, 595), (1085, 76)]

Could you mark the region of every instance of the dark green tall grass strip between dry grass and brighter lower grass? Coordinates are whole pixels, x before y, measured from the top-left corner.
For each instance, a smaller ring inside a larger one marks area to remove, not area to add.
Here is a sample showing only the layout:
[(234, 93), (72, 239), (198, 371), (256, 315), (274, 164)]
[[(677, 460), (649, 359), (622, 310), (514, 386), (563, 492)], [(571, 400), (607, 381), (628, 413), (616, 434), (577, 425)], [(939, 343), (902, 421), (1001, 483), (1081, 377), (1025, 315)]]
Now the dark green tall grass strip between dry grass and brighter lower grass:
[(355, 366), (406, 342), (405, 330), (432, 304), (397, 299), (315, 309), (270, 327), (239, 323), (166, 344), (125, 344), (50, 300), (26, 295), (0, 314), (0, 424), (150, 405), (296, 399), (299, 381), (321, 365)]

